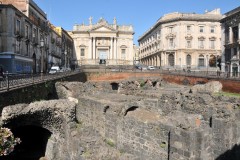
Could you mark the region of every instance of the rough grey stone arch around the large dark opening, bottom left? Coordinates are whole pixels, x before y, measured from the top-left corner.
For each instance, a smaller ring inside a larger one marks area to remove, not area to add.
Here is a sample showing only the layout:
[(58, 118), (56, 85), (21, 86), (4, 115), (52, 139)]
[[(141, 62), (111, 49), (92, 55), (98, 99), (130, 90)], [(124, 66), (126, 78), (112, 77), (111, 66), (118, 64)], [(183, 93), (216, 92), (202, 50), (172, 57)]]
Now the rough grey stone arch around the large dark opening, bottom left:
[(48, 159), (60, 159), (71, 152), (67, 150), (62, 154), (62, 150), (66, 149), (66, 144), (72, 139), (69, 135), (70, 123), (76, 123), (76, 103), (66, 99), (18, 104), (2, 110), (2, 124), (5, 127), (14, 130), (31, 126), (30, 128), (51, 133), (51, 138), (44, 136), (48, 137), (45, 146), (45, 156)]

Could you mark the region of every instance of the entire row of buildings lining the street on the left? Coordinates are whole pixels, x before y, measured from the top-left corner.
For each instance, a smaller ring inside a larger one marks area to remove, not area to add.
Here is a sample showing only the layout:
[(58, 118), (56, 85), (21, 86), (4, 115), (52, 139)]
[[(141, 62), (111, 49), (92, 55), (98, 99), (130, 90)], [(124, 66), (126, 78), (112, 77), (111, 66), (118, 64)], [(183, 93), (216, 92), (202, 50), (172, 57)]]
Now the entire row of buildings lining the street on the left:
[(4, 72), (47, 73), (52, 65), (70, 67), (73, 40), (67, 31), (53, 26), (33, 0), (1, 2), (0, 66)]

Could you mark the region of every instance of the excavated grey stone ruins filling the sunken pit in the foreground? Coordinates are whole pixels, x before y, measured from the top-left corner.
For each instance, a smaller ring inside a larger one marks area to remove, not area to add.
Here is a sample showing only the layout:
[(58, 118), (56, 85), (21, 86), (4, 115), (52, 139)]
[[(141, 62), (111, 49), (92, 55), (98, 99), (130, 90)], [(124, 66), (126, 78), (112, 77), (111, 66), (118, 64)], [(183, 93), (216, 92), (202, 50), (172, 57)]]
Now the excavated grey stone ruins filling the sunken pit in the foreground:
[[(211, 87), (210, 87), (211, 86)], [(58, 82), (59, 100), (3, 109), (3, 125), (49, 131), (48, 160), (239, 159), (240, 100), (221, 84), (162, 79)]]

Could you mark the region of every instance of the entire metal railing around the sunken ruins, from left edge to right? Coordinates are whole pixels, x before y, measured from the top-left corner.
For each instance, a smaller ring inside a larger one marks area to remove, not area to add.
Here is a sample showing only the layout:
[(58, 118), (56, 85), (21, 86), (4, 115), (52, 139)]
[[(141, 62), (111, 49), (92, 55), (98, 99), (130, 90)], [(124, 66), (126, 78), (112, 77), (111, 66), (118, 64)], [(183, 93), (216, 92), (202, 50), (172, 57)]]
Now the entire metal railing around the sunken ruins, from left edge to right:
[(132, 66), (107, 66), (107, 67), (82, 67), (81, 70), (62, 72), (56, 74), (16, 74), (5, 75), (5, 78), (0, 80), (0, 92), (9, 91), (11, 89), (30, 86), (33, 84), (43, 83), (55, 79), (68, 77), (80, 72), (131, 72), (131, 73), (159, 73), (168, 75), (181, 75), (202, 78), (219, 78), (233, 79), (240, 81), (240, 73), (238, 72), (220, 72), (220, 71), (199, 71), (199, 70), (176, 70), (176, 69), (155, 69), (155, 70), (139, 70)]

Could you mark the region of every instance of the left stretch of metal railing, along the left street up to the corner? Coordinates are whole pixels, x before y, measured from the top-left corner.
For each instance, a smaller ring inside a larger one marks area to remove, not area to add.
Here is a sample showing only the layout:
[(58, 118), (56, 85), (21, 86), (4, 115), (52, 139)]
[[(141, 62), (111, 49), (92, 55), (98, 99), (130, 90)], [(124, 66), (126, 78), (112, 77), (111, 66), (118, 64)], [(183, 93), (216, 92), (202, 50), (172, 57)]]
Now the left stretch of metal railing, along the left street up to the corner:
[(4, 78), (0, 79), (0, 92), (68, 77), (79, 72), (76, 70), (56, 74), (5, 74)]

